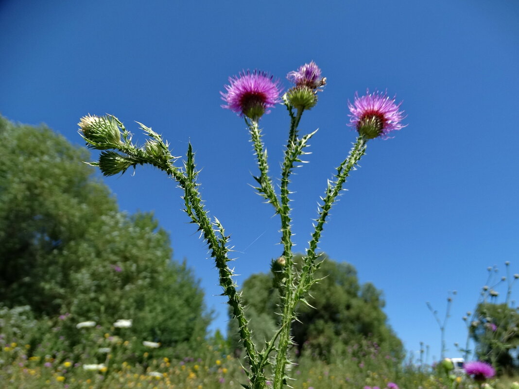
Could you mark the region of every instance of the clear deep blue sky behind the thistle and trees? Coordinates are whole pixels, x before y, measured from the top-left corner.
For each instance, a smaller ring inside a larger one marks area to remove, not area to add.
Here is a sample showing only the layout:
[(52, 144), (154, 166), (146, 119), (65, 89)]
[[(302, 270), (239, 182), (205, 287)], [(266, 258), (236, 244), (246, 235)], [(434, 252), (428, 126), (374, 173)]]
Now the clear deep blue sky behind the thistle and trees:
[[(333, 209), (320, 248), (351, 262), (361, 282), (384, 290), (389, 323), (408, 350), (439, 355), (426, 301), (444, 310), (456, 289), (447, 344), (463, 343), (486, 268), (519, 273), (519, 3), (515, 0), (0, 2), (0, 113), (81, 144), (78, 119), (111, 113), (144, 141), (134, 120), (162, 133), (174, 154), (193, 143), (202, 193), (231, 233), (244, 277), (280, 254), (279, 220), (248, 186), (256, 172), (243, 120), (219, 91), (243, 68), (282, 78), (314, 60), (328, 84), (301, 130), (319, 128), (309, 164), (294, 176), (296, 249), (303, 251), (326, 179), (355, 133), (347, 100), (366, 88), (403, 99), (408, 127), (368, 144)], [(288, 117), (261, 121), (278, 173)], [(225, 299), (179, 189), (165, 175), (103, 178), (120, 208), (154, 211), (174, 258), (201, 280), (212, 328), (226, 326)], [(514, 295), (517, 296), (516, 291)], [(172, 296), (174, 298), (174, 296)], [(174, 318), (172, 318), (174, 320)]]

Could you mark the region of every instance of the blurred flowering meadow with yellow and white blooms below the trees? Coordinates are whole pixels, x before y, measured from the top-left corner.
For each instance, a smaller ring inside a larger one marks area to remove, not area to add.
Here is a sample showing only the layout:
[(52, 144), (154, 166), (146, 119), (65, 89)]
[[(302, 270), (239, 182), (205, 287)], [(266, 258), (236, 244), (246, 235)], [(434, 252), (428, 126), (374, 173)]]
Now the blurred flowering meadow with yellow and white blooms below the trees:
[[(247, 383), (244, 360), (218, 335), (198, 339), (197, 345), (165, 348), (135, 337), (127, 339), (129, 320), (118, 321), (110, 328), (81, 322), (74, 326), (80, 342), (71, 350), (63, 325), (73, 322), (71, 315), (49, 319), (45, 328), (41, 321), (28, 319), (28, 311), (28, 307), (0, 311), (2, 388), (220, 389), (240, 388), (241, 383)], [(43, 341), (35, 343), (36, 339)], [(441, 369), (412, 359), (401, 364), (368, 340), (330, 355), (327, 362), (312, 355), (292, 357), (290, 373), (294, 379), (289, 384), (295, 389), (516, 387), (513, 377), (480, 384), (464, 374), (449, 378)]]

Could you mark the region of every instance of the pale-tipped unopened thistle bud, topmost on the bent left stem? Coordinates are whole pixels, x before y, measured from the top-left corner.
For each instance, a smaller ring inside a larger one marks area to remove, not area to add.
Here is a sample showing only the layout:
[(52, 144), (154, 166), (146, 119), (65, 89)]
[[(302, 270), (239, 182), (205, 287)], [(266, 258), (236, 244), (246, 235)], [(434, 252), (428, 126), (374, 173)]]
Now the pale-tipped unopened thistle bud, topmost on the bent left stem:
[(119, 127), (112, 117), (88, 115), (82, 117), (77, 124), (89, 147), (106, 150), (114, 148), (121, 141)]

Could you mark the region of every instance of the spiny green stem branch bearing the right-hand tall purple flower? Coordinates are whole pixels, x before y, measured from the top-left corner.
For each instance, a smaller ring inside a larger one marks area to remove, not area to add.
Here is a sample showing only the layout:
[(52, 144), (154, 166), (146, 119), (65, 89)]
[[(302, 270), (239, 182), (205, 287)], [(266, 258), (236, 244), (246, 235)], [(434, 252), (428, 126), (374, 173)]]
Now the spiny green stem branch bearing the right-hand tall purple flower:
[(335, 202), (335, 199), (343, 189), (343, 185), (346, 182), (346, 178), (348, 178), (351, 169), (354, 168), (354, 166), (364, 155), (366, 151), (366, 143), (367, 140), (362, 135), (357, 137), (357, 142), (353, 145), (348, 157), (346, 157), (346, 159), (337, 168), (335, 182), (328, 182), (326, 195), (323, 198), (323, 204), (320, 206), (317, 224), (315, 226), (314, 232), (312, 233), (312, 239), (309, 242), (306, 252), (305, 262), (301, 271), (301, 280), (299, 281), (297, 288), (297, 299), (301, 299), (313, 284), (313, 275), (316, 270), (315, 262), (318, 257), (316, 250), (317, 245), (319, 244), (319, 240), (321, 239), (321, 233), (324, 227), (324, 223), (326, 222), (326, 217), (328, 216), (330, 209)]

